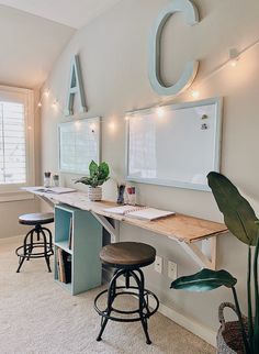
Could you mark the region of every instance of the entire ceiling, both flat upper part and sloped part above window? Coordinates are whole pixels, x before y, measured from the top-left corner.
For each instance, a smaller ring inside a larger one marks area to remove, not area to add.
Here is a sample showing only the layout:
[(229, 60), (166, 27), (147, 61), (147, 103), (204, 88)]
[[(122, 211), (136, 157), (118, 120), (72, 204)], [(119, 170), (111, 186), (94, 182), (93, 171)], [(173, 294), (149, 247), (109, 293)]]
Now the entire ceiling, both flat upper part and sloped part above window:
[(41, 87), (77, 29), (120, 0), (0, 0), (0, 85)]

